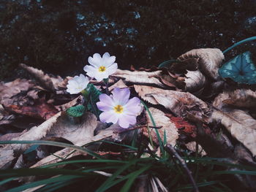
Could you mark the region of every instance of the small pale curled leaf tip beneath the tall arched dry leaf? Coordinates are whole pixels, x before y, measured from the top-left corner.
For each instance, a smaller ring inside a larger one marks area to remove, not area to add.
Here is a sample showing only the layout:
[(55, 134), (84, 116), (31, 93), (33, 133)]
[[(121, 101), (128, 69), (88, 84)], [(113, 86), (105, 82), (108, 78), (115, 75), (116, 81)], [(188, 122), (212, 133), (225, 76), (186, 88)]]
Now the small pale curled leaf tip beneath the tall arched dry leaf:
[(185, 74), (185, 91), (198, 91), (206, 85), (206, 77), (200, 71), (187, 71)]

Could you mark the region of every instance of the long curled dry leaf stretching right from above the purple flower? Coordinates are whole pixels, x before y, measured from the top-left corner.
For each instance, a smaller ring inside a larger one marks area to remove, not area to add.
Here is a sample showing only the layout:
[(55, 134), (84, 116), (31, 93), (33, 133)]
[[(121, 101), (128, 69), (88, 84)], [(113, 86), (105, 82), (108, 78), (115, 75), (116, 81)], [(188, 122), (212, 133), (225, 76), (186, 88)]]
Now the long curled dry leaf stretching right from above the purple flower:
[(151, 104), (161, 104), (167, 110), (179, 117), (184, 117), (187, 112), (197, 118), (203, 118), (208, 113), (207, 104), (188, 92), (164, 90), (145, 85), (134, 85), (139, 96)]

